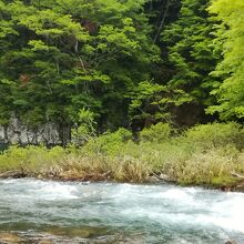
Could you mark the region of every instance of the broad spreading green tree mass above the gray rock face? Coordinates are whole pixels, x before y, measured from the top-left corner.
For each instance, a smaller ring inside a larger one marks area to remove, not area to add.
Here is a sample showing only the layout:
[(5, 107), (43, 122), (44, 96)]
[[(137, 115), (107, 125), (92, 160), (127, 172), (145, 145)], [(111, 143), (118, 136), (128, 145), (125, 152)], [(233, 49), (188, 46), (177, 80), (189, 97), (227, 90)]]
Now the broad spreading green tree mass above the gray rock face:
[(150, 79), (159, 53), (144, 2), (1, 0), (0, 89), (9, 95), (0, 110), (33, 129), (54, 122), (61, 134), (83, 109), (100, 128), (128, 125), (128, 93)]

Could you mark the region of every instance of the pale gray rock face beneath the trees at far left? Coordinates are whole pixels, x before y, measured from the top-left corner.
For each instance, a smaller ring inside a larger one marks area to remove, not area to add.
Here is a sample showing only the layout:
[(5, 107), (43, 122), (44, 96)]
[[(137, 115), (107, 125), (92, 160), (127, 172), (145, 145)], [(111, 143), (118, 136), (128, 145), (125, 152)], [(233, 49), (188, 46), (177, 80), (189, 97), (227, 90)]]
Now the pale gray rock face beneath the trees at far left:
[(59, 129), (53, 123), (47, 123), (38, 130), (28, 128), (12, 118), (8, 126), (0, 126), (0, 144), (61, 144)]

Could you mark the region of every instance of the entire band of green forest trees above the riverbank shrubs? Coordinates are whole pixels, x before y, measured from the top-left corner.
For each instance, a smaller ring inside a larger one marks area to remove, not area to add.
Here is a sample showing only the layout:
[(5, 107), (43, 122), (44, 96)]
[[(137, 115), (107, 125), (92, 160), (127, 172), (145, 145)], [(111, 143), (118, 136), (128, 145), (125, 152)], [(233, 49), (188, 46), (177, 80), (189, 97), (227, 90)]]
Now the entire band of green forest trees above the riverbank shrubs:
[(242, 123), (243, 13), (243, 0), (0, 0), (0, 125)]

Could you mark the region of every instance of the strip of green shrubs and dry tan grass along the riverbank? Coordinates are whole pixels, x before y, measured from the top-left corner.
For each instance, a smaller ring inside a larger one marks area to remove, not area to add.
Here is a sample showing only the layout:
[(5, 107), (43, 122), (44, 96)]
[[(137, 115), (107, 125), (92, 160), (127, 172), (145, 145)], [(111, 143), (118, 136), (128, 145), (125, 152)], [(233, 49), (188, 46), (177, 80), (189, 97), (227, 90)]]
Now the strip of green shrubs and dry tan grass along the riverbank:
[(83, 145), (10, 146), (0, 172), (34, 177), (151, 182), (244, 189), (244, 129), (213, 123), (177, 131), (165, 123), (144, 129), (136, 140), (125, 129), (91, 136)]

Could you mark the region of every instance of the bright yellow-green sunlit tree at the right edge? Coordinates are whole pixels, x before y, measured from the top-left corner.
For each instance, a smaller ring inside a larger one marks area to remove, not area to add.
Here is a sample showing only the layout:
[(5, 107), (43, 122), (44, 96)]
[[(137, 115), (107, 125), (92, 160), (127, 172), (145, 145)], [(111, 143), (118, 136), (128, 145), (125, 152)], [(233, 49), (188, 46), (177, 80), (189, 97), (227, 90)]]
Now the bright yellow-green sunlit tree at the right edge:
[(221, 85), (212, 94), (217, 104), (210, 106), (210, 113), (217, 112), (222, 120), (244, 118), (244, 1), (216, 0), (210, 7), (218, 24), (215, 27), (215, 45), (222, 43), (223, 61), (213, 77), (222, 79)]

